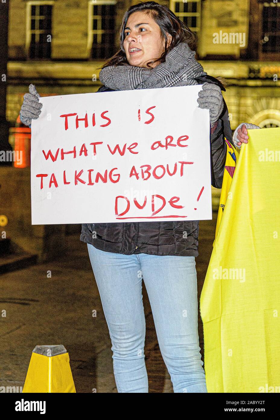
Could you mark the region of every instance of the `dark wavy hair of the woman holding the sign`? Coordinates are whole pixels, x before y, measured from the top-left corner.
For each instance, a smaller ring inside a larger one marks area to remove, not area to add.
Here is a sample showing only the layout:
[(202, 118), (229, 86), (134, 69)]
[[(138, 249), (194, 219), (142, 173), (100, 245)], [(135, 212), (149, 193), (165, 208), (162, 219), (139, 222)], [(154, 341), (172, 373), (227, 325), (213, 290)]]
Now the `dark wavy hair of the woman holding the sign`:
[[(122, 19), (122, 24), (119, 31), (119, 50), (109, 60), (104, 63), (104, 67), (107, 66), (123, 66), (129, 64), (126, 58), (124, 50), (124, 28), (127, 24), (127, 19), (134, 12), (145, 12), (158, 24), (161, 29), (161, 39), (165, 42), (164, 52), (161, 57), (155, 60), (149, 61), (147, 67), (151, 67), (152, 63), (163, 63), (165, 61), (166, 54), (172, 50), (179, 42), (187, 42), (192, 51), (196, 50), (197, 36), (192, 32), (189, 27), (180, 21), (179, 18), (166, 6), (158, 4), (154, 1), (140, 2), (136, 5), (131, 6), (125, 13)], [(167, 34), (172, 36), (171, 43), (168, 45)]]

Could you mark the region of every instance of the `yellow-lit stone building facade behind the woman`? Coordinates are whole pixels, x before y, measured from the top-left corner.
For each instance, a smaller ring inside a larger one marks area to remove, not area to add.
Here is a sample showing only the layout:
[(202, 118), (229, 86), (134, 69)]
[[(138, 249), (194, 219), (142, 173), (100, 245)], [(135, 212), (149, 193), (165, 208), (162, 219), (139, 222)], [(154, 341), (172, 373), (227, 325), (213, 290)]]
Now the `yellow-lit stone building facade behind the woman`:
[[(10, 0), (7, 119), (32, 82), (41, 95), (94, 92), (132, 0)], [(231, 126), (280, 126), (280, 0), (161, 1), (197, 33), (197, 59), (228, 79)]]

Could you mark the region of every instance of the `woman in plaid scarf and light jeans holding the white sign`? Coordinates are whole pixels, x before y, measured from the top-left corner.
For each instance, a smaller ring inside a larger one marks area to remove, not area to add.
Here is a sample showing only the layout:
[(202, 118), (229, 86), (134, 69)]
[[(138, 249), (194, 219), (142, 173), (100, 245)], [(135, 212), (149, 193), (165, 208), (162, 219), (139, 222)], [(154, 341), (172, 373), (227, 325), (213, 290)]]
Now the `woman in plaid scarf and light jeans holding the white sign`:
[[(195, 60), (194, 34), (168, 8), (147, 2), (124, 14), (119, 39), (119, 51), (100, 71), (98, 92), (202, 84), (197, 101), (210, 110), (211, 181), (220, 188), (224, 137), (237, 147), (247, 143), (246, 124), (232, 139), (225, 89)], [(29, 92), (21, 108), (26, 125), (41, 113), (36, 88)], [(117, 390), (148, 392), (143, 279), (174, 392), (207, 392), (197, 332), (198, 220), (88, 223), (80, 240), (87, 243), (109, 327)]]

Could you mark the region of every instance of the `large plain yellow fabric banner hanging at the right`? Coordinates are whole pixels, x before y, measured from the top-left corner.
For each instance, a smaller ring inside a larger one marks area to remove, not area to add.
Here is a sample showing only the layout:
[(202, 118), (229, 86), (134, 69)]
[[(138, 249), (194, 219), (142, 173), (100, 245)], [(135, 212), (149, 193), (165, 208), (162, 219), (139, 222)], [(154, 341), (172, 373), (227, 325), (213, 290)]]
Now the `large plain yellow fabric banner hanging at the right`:
[(280, 128), (248, 133), (200, 298), (208, 392), (280, 392)]

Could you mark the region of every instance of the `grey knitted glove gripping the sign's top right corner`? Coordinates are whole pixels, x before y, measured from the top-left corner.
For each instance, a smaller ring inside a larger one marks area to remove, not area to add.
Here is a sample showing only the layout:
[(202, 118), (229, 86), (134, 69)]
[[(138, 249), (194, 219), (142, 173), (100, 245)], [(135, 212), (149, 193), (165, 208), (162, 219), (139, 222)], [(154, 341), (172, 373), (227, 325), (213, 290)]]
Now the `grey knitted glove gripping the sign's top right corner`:
[(210, 110), (210, 123), (213, 127), (223, 111), (223, 95), (220, 88), (214, 83), (203, 83), (202, 90), (198, 92), (199, 108)]

